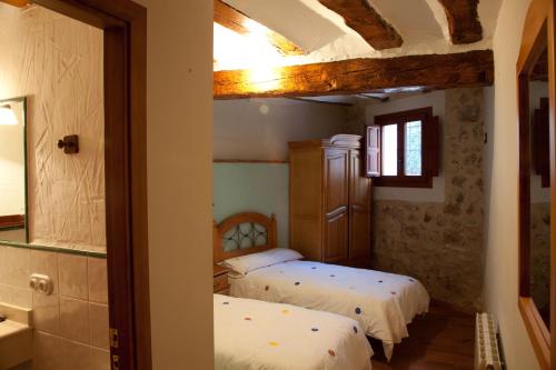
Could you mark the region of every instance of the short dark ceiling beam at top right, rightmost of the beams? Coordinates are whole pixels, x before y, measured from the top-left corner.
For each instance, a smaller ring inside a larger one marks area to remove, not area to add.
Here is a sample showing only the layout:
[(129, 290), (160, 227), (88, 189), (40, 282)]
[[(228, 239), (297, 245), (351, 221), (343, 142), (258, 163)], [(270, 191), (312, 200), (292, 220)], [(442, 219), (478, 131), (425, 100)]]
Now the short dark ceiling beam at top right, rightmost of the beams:
[(473, 43), (483, 40), (478, 16), (479, 0), (438, 0), (448, 19), (451, 43)]

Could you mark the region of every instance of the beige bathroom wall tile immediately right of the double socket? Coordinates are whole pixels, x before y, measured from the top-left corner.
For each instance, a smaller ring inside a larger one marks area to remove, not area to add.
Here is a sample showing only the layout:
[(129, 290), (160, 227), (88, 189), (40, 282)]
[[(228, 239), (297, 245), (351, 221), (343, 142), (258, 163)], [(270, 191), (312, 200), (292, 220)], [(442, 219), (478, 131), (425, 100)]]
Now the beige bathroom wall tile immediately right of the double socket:
[(58, 278), (60, 296), (89, 299), (87, 257), (59, 253)]

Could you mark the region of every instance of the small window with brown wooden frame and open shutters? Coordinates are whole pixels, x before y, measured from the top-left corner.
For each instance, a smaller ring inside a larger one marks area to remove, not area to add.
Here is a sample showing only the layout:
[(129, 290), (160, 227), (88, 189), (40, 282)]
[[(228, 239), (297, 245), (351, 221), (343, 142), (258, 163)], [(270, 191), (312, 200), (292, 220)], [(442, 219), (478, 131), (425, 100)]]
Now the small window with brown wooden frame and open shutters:
[(378, 187), (431, 188), (438, 176), (438, 117), (433, 108), (375, 117), (367, 128), (367, 176)]

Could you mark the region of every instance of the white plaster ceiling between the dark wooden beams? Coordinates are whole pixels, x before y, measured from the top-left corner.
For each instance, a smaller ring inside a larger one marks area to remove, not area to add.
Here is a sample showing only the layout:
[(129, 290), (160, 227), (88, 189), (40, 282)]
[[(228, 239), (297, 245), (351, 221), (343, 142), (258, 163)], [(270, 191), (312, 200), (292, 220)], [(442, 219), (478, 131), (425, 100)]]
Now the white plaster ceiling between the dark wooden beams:
[[(357, 32), (344, 23), (344, 19), (318, 0), (224, 0), (251, 19), (281, 33), (304, 51), (306, 56), (284, 58), (278, 56), (265, 61), (275, 67), (344, 60), (353, 58), (388, 58), (423, 53), (449, 53), (488, 49), (496, 27), (502, 0), (481, 0), (478, 12), (484, 39), (466, 46), (449, 41), (446, 14), (438, 0), (368, 0), (401, 34), (401, 48), (374, 50)], [(217, 26), (215, 26), (216, 28)], [(224, 43), (229, 39), (215, 30), (215, 70), (247, 69), (260, 63), (260, 58), (249, 57), (248, 41), (236, 40), (236, 58), (227, 58)], [(222, 39), (222, 40), (219, 40)], [(268, 67), (268, 66), (267, 66)]]

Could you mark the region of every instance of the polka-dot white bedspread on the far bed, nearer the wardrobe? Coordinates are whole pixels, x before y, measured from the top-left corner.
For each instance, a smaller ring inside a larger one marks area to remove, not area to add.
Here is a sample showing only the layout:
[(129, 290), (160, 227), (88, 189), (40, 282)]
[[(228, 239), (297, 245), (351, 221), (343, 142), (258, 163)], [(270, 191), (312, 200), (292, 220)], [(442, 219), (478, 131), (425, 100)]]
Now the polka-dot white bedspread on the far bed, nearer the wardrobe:
[(428, 311), (430, 300), (410, 277), (311, 261), (277, 263), (229, 280), (234, 297), (353, 318), (368, 336), (383, 341), (388, 359), (394, 343), (408, 337), (407, 324)]

